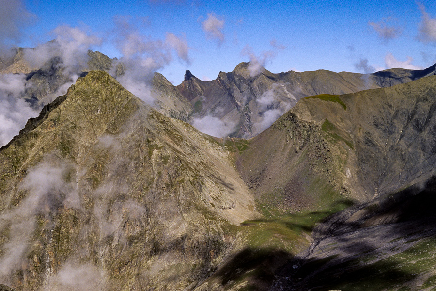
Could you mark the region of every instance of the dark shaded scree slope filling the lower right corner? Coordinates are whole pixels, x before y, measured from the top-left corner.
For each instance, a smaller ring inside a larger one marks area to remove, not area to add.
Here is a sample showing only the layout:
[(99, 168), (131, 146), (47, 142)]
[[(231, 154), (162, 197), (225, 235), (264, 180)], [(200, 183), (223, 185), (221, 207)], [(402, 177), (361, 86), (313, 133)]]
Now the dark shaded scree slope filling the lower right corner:
[(436, 238), (436, 178), (378, 200), (364, 219), (317, 227), (321, 239), (276, 273), (275, 290), (387, 290), (433, 270), (427, 252), (436, 244), (427, 243)]

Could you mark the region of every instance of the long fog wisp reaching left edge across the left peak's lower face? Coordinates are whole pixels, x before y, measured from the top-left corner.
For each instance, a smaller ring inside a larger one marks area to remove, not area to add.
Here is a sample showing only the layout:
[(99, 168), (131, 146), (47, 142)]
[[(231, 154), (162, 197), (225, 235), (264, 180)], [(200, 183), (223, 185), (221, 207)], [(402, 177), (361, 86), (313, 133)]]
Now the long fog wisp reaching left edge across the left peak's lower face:
[(28, 195), (16, 208), (0, 215), (0, 231), (9, 226), (9, 241), (0, 257), (0, 279), (7, 281), (26, 262), (38, 215), (51, 220), (62, 207), (80, 206), (76, 188), (66, 181), (69, 170), (69, 165), (62, 161), (41, 162), (28, 169), (18, 189)]

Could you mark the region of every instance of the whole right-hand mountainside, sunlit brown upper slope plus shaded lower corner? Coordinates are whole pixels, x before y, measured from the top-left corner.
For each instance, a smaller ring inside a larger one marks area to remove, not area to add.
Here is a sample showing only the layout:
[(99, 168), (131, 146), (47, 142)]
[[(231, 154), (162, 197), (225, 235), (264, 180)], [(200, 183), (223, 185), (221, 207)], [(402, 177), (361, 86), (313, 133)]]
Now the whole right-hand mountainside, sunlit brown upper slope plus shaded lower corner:
[(273, 290), (434, 288), (435, 88), (307, 97), (247, 142), (238, 169), (276, 217), (355, 205), (318, 221)]

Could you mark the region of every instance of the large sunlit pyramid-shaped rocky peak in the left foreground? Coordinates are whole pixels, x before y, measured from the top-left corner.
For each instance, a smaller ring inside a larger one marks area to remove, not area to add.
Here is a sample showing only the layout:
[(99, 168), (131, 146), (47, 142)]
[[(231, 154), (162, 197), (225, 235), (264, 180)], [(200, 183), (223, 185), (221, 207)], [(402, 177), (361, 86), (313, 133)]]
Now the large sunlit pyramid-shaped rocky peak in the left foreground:
[(104, 72), (29, 120), (0, 161), (0, 277), (16, 290), (190, 290), (259, 215), (225, 146)]

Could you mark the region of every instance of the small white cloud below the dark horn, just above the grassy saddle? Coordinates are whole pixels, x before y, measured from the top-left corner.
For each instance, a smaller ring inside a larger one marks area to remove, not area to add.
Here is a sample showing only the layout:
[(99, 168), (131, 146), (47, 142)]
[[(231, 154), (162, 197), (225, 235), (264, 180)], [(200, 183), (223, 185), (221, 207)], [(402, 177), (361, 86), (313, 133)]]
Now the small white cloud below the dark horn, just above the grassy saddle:
[(235, 124), (231, 122), (224, 122), (218, 117), (204, 116), (202, 118), (193, 118), (191, 125), (203, 133), (215, 137), (229, 136), (235, 130)]

